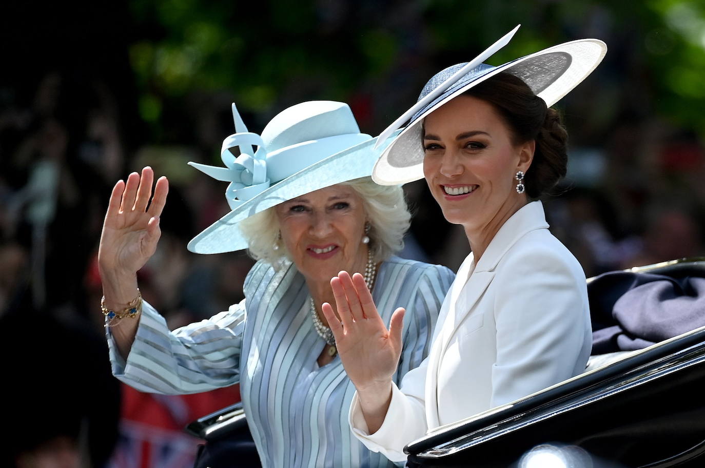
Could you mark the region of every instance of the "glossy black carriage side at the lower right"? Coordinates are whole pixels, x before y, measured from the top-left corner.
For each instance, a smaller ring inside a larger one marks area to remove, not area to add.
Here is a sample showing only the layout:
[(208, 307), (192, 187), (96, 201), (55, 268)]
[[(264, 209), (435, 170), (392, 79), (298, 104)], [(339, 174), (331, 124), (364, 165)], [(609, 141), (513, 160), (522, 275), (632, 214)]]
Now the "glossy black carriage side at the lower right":
[(571, 468), (705, 467), (705, 327), (591, 359), (604, 364), (413, 441), (407, 466), (533, 468), (548, 454)]

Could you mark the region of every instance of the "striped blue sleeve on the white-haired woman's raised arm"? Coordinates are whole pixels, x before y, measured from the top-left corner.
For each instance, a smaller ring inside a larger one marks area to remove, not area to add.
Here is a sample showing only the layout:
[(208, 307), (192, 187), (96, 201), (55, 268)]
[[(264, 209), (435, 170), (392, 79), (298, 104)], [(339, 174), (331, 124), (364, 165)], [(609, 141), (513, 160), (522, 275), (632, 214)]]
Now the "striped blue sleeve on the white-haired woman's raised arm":
[(143, 302), (127, 360), (106, 328), (113, 374), (142, 392), (166, 395), (200, 393), (238, 383), (245, 316), (243, 299), (226, 312), (170, 332), (164, 317)]

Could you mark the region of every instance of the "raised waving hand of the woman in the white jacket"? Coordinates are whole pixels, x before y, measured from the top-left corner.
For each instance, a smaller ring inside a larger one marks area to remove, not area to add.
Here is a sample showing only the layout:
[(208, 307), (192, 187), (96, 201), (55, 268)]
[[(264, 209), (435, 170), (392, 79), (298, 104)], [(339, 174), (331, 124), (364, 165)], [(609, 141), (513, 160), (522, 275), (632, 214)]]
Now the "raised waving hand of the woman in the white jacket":
[(391, 400), (392, 376), (402, 350), (404, 309), (394, 311), (387, 329), (360, 273), (341, 271), (331, 279), (336, 313), (322, 306), (345, 372), (357, 388), (370, 433), (379, 429)]

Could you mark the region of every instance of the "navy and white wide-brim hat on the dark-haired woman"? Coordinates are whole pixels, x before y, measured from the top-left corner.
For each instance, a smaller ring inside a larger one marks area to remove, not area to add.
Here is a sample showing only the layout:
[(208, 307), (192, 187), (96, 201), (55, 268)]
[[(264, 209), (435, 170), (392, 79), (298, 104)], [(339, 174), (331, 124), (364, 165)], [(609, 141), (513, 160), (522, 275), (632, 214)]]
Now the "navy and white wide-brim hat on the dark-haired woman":
[[(434, 75), (422, 90), (419, 100), (379, 135), (386, 142), (372, 171), (372, 179), (380, 185), (398, 185), (424, 178), (422, 122), (431, 112), (450, 99), (458, 97), (500, 72), (521, 78), (534, 94), (552, 106), (577, 86), (605, 56), (607, 46), (599, 39), (580, 39), (517, 58), (501, 66), (482, 63), (504, 47), (519, 26), (508, 32), (489, 49), (468, 63), (459, 63)], [(406, 121), (408, 125), (396, 139), (387, 142)]]

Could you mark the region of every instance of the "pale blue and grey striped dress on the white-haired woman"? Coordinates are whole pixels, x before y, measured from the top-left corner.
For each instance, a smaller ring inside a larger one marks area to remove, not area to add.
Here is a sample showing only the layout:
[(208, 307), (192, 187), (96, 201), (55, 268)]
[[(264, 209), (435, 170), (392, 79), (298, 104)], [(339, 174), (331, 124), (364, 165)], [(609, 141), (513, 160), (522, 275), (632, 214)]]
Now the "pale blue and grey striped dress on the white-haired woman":
[[(405, 307), (403, 352), (394, 380), (429, 353), (443, 297), (454, 273), (444, 266), (392, 257), (373, 297), (382, 319)], [(183, 394), (240, 383), (243, 407), (263, 467), (391, 467), (357, 441), (348, 426), (355, 387), (340, 357), (323, 367), (309, 292), (293, 264), (257, 262), (245, 300), (226, 312), (170, 332), (146, 302), (125, 361), (108, 330), (113, 373), (137, 390)]]

